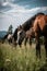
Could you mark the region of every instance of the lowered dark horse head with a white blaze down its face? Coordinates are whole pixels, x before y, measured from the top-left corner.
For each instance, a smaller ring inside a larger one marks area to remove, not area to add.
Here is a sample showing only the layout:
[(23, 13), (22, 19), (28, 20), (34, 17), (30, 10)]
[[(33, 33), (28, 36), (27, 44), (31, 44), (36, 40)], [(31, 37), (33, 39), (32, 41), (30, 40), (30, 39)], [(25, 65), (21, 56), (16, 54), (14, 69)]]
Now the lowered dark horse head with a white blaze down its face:
[[(22, 37), (22, 38), (20, 38), (20, 37)], [(16, 43), (20, 45), (20, 47), (22, 45), (22, 42), (23, 42), (24, 37), (25, 37), (25, 32), (23, 31), (22, 26), (20, 25), (17, 27), (17, 40), (16, 40)]]

